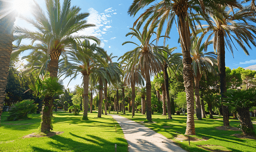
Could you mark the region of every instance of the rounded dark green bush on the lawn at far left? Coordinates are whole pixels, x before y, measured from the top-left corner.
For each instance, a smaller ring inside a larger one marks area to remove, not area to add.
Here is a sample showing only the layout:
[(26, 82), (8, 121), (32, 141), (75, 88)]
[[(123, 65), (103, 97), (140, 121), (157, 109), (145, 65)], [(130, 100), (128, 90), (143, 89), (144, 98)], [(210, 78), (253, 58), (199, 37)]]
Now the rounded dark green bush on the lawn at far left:
[(14, 106), (10, 110), (10, 116), (7, 118), (7, 121), (28, 119), (27, 114), (37, 112), (38, 104), (33, 104), (33, 103), (34, 103), (34, 100), (26, 99), (14, 104)]

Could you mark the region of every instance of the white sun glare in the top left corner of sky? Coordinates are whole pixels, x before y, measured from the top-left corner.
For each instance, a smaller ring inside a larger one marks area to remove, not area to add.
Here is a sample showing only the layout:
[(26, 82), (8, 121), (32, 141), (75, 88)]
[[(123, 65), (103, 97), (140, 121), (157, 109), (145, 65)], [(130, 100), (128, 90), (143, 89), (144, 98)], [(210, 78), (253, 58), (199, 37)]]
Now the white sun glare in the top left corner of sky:
[(15, 0), (13, 2), (13, 7), (20, 15), (25, 16), (30, 13), (32, 3), (33, 1), (31, 0)]

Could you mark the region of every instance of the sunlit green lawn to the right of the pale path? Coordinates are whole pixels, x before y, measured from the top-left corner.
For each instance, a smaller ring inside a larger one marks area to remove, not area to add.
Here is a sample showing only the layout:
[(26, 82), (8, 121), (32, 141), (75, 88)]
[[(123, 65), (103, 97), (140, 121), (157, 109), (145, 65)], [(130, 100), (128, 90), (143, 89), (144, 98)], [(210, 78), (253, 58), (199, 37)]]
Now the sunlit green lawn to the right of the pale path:
[[(129, 112), (127, 115), (122, 116), (138, 123), (146, 120), (145, 115), (141, 115), (141, 113), (135, 113), (134, 118), (131, 117), (132, 115)], [(188, 151), (256, 151), (256, 140), (240, 139), (236, 136), (231, 136), (233, 134), (240, 134), (242, 133), (241, 131), (217, 130), (216, 127), (223, 126), (222, 117), (215, 117), (215, 119), (203, 119), (201, 121), (195, 120), (196, 135), (192, 137), (201, 139), (202, 137), (207, 137), (209, 140), (190, 141), (189, 146), (188, 141), (175, 139), (178, 135), (185, 133), (187, 117), (183, 115), (173, 115), (172, 117), (172, 120), (166, 120), (166, 116), (161, 116), (160, 113), (154, 113), (152, 118), (153, 122), (156, 123), (144, 123), (143, 125), (169, 139), (174, 140), (179, 146)], [(196, 116), (194, 117), (196, 118)], [(254, 121), (256, 120), (253, 119), (253, 122)], [(239, 127), (240, 123), (238, 120), (230, 119), (230, 125), (232, 127)], [(254, 125), (254, 128), (256, 128), (256, 125)]]

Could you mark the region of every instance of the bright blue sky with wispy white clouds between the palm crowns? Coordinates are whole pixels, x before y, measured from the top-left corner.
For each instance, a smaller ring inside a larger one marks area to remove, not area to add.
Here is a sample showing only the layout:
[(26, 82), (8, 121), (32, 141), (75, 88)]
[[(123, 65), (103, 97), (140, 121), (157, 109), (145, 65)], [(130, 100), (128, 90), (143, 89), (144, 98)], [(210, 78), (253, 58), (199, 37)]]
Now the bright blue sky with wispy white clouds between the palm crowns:
[[(28, 0), (27, 0), (28, 1)], [(36, 2), (45, 10), (44, 0), (36, 0)], [(63, 1), (61, 0), (61, 3)], [(130, 36), (126, 37), (126, 33), (130, 31), (130, 27), (133, 26), (133, 22), (137, 19), (138, 15), (131, 17), (127, 11), (132, 4), (132, 0), (72, 0), (71, 6), (78, 6), (81, 8), (81, 12), (88, 12), (90, 16), (87, 18), (89, 23), (93, 23), (96, 27), (90, 27), (86, 30), (80, 31), (79, 34), (94, 35), (101, 40), (101, 47), (103, 47), (108, 54), (113, 53), (114, 56), (122, 56), (125, 52), (132, 50), (135, 46), (132, 44), (126, 44), (122, 46), (125, 41), (137, 42), (136, 39)], [(20, 26), (29, 27), (28, 24), (16, 19), (15, 24)], [(181, 53), (180, 44), (178, 44), (178, 32), (174, 26), (172, 32), (169, 35), (170, 39), (166, 44), (169, 47), (178, 47), (176, 52)], [(162, 41), (159, 41), (158, 45), (162, 45)], [(249, 50), (250, 56), (247, 56), (243, 50), (237, 47), (239, 51), (234, 49), (234, 58), (232, 54), (226, 50), (225, 63), (226, 66), (231, 69), (237, 67), (247, 67), (249, 65), (256, 64), (256, 49)], [(213, 51), (212, 47), (208, 47), (209, 51)], [(117, 61), (117, 58), (114, 59)], [(76, 81), (72, 81), (69, 84), (69, 88), (73, 89), (76, 84), (81, 84), (80, 77), (77, 77)], [(69, 79), (66, 78), (64, 84), (66, 85)]]

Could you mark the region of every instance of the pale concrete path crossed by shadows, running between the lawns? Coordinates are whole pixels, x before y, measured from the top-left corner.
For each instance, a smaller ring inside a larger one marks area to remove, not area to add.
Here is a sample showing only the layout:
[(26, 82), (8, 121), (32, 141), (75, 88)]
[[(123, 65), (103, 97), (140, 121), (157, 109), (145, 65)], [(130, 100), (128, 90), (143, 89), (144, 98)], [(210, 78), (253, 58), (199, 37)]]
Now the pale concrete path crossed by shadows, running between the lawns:
[(121, 126), (128, 142), (129, 152), (137, 151), (186, 151), (172, 140), (127, 118), (111, 115)]

